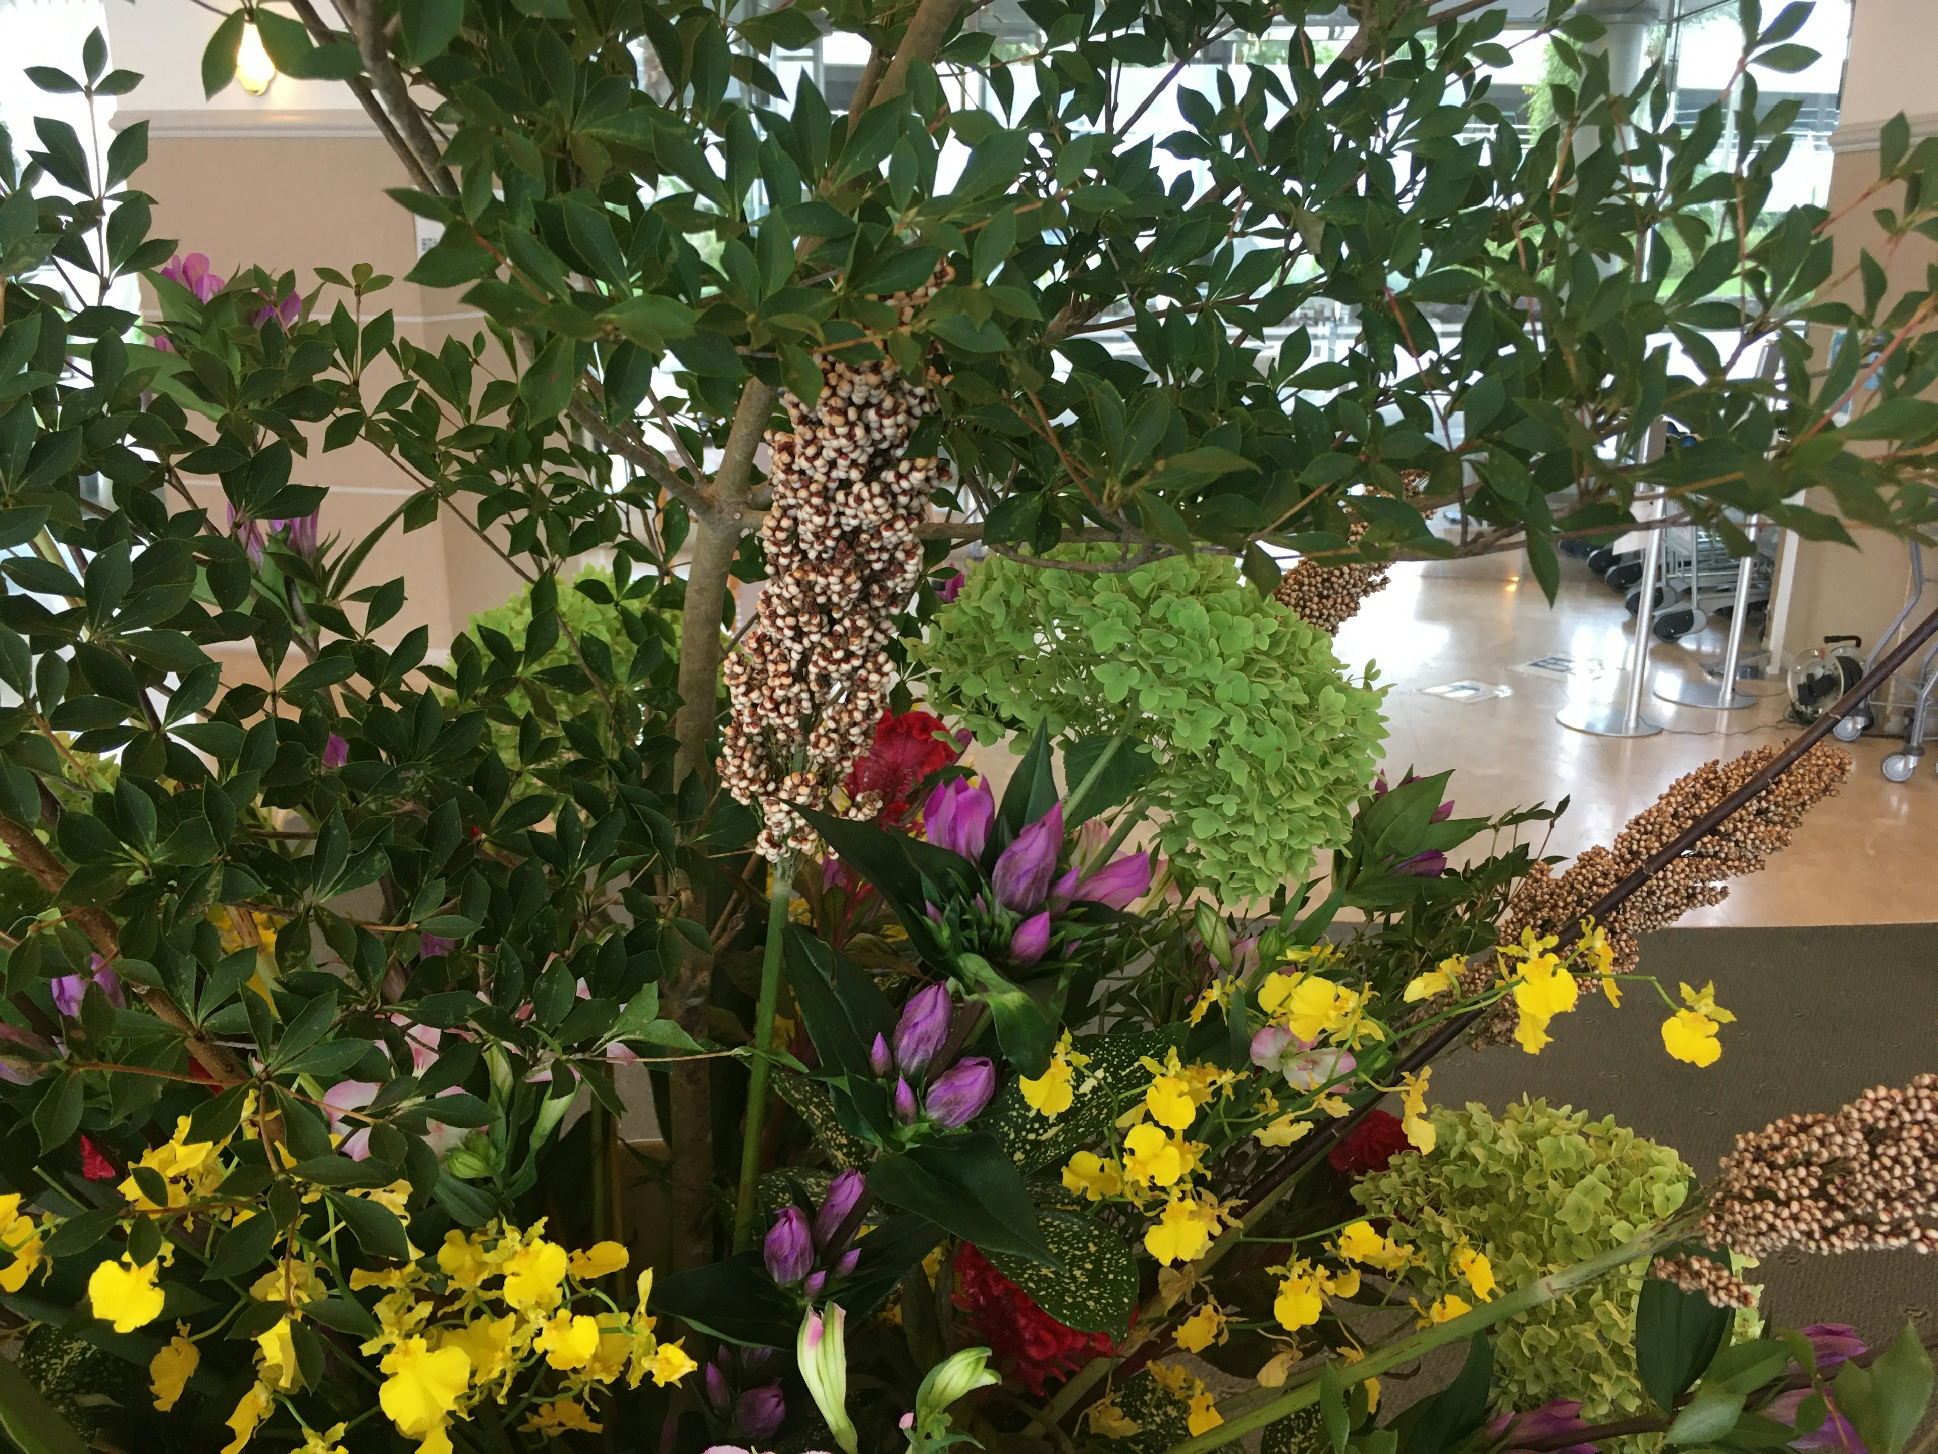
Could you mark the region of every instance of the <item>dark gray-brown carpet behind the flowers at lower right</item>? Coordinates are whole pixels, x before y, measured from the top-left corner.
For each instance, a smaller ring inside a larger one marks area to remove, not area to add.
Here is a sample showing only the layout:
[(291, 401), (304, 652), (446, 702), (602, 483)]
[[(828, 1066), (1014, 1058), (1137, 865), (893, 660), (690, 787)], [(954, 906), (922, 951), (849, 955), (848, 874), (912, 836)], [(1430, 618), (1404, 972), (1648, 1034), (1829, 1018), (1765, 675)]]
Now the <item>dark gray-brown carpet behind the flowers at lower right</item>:
[[(1700, 1179), (1736, 1132), (1793, 1111), (1835, 1111), (1870, 1086), (1938, 1070), (1938, 925), (1857, 929), (1674, 929), (1641, 942), (1641, 969), (1702, 989), (1736, 1014), (1709, 1068), (1663, 1051), (1665, 1010), (1645, 985), (1622, 1008), (1583, 998), (1541, 1055), (1517, 1045), (1454, 1051), (1434, 1064), (1432, 1099), (1498, 1107), (1523, 1093), (1612, 1115), (1674, 1146)], [(1779, 1324), (1849, 1322), (1878, 1343), (1905, 1318), (1938, 1316), (1938, 1256), (1785, 1252), (1758, 1268)]]

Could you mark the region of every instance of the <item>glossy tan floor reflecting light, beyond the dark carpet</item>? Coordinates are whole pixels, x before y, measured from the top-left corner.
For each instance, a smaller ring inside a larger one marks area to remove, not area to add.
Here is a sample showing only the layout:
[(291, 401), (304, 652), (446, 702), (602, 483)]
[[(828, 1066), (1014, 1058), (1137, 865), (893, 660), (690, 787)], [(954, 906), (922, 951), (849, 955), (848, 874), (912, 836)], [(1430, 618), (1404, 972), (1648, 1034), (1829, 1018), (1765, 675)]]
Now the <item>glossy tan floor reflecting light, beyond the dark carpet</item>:
[[(1781, 721), (1783, 682), (1744, 682), (1760, 700), (1736, 711), (1684, 708), (1651, 694), (1643, 715), (1665, 727), (1643, 739), (1589, 737), (1554, 713), (1570, 702), (1610, 702), (1624, 690), (1634, 618), (1585, 566), (1562, 560), (1564, 584), (1548, 607), (1519, 556), (1415, 564), (1393, 570), (1339, 630), (1339, 659), (1368, 661), (1390, 686), (1386, 770), (1454, 768), (1459, 814), (1492, 814), (1537, 801), (1572, 799), (1550, 853), (1574, 855), (1607, 843), (1674, 777), (1709, 758), (1783, 743), (1798, 729)], [(1651, 686), (1702, 679), (1702, 661), (1723, 651), (1723, 628), (1676, 644), (1653, 644)], [(1543, 657), (1601, 661), (1597, 679), (1529, 671)], [(1510, 696), (1432, 694), (1424, 688), (1475, 680)], [(1878, 762), (1899, 743), (1853, 744), (1857, 766), (1843, 793), (1820, 805), (1789, 851), (1766, 872), (1736, 880), (1727, 901), (1682, 925), (1847, 925), (1938, 921), (1938, 775), (1888, 783)], [(1934, 752), (1930, 762), (1938, 762)]]

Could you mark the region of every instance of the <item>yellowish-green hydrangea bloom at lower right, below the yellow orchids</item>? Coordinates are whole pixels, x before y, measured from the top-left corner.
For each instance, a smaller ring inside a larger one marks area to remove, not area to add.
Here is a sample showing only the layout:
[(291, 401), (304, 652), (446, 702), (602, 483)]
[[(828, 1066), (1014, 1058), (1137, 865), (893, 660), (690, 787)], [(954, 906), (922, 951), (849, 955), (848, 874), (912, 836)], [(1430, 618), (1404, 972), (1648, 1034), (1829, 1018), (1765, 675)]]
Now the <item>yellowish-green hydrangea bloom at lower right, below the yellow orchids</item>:
[[(1502, 1291), (1607, 1252), (1661, 1221), (1688, 1196), (1690, 1169), (1672, 1148), (1570, 1107), (1517, 1101), (1434, 1107), (1428, 1154), (1393, 1157), (1353, 1186), (1370, 1216), (1391, 1217), (1395, 1241), (1424, 1264), (1424, 1295), (1479, 1299), (1454, 1272), (1454, 1252), (1486, 1254)], [(1494, 1332), (1502, 1407), (1581, 1400), (1589, 1423), (1647, 1406), (1636, 1380), (1636, 1297), (1645, 1264), (1610, 1274)]]

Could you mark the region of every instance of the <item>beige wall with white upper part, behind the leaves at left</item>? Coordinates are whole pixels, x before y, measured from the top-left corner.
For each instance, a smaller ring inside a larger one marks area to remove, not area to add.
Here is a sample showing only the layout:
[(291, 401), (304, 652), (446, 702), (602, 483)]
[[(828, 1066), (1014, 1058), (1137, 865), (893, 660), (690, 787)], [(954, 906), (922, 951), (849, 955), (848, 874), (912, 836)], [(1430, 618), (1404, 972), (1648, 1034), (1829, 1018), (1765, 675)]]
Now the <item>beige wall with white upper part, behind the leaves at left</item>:
[[(116, 126), (149, 124), (149, 163), (138, 184), (155, 198), (155, 235), (178, 238), (178, 252), (207, 254), (213, 269), (231, 277), (238, 268), (273, 273), (295, 269), (308, 297), (320, 283), (316, 268), (349, 275), (359, 262), (401, 279), (417, 258), (417, 225), (384, 188), (405, 186), (403, 165), (391, 155), (355, 97), (341, 85), (277, 78), (262, 97), (231, 85), (203, 101), (198, 85), (200, 52), (217, 16), (190, 0), (145, 0), (109, 6), (116, 64), (136, 66), (149, 79), (128, 99)], [(326, 285), (316, 302), (328, 316), (337, 300), (355, 300)], [(153, 308), (153, 297), (143, 299)], [(397, 335), (428, 349), (450, 333), (471, 337), (483, 318), (455, 293), (395, 281), (364, 300), (364, 318), (393, 310)], [(496, 343), (486, 364), (504, 370)], [(483, 372), (483, 370), (481, 370)], [(364, 380), (364, 401), (376, 403), (395, 382), (393, 370)], [(481, 380), (483, 382), (483, 380)], [(380, 450), (357, 442), (322, 452), (312, 430), (308, 459), (297, 461), (297, 481), (329, 487), (324, 535), (362, 539), (415, 492), (415, 483)], [(192, 483), (198, 500), (223, 518), (221, 489)], [(463, 496), (469, 508), (475, 496)], [(442, 659), (452, 636), (477, 611), (500, 605), (517, 585), (512, 570), (477, 537), (453, 506), (409, 535), (391, 525), (372, 551), (360, 582), (405, 578), (407, 605), (378, 632), (393, 644), (413, 626), (430, 632), (432, 659)], [(254, 651), (242, 648), (248, 659)]]

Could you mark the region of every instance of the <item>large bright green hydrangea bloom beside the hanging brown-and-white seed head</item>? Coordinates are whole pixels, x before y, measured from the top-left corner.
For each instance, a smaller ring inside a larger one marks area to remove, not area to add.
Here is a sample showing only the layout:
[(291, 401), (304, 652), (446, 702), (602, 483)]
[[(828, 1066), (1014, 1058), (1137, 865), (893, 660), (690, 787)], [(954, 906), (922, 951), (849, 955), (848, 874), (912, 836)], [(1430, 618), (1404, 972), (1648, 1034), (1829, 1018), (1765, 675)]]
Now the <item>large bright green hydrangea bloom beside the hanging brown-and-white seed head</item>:
[[(1064, 547), (1062, 558), (1114, 558)], [(983, 743), (1048, 721), (1062, 741), (1128, 731), (1167, 855), (1227, 901), (1304, 878), (1345, 841), (1386, 737), (1382, 692), (1331, 642), (1262, 597), (1227, 556), (1130, 572), (990, 556), (911, 651)]]

